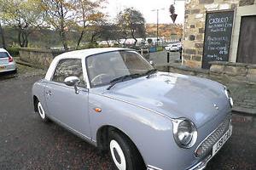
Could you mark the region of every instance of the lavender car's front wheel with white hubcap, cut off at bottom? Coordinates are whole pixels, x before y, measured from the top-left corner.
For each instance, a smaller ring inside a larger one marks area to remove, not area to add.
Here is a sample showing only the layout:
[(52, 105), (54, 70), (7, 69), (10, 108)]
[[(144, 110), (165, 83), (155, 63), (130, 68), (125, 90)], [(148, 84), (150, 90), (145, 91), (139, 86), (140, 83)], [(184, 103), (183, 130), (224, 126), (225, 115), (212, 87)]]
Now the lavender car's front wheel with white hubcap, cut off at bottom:
[(109, 138), (110, 155), (115, 167), (119, 170), (143, 170), (146, 169), (143, 159), (124, 134), (111, 131)]

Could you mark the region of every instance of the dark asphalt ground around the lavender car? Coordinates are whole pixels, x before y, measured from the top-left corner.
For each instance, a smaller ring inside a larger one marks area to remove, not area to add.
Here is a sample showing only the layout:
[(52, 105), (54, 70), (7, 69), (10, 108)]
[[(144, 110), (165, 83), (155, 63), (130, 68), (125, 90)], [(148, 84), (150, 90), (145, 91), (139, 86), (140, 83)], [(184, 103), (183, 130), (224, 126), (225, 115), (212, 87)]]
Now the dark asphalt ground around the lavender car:
[[(32, 83), (0, 80), (0, 169), (113, 169), (108, 155), (32, 110)], [(256, 169), (256, 117), (233, 115), (233, 135), (207, 169)]]

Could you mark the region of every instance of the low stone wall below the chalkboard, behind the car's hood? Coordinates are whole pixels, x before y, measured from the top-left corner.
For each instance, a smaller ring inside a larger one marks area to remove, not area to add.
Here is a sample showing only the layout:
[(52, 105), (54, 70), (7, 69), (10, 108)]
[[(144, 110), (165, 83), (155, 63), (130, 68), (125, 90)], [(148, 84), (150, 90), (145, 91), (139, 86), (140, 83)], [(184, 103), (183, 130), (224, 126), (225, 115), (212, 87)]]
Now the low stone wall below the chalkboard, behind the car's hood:
[(210, 70), (190, 68), (184, 65), (157, 66), (159, 71), (205, 77), (220, 82), (230, 89), (234, 99), (234, 111), (256, 114), (256, 65), (230, 62), (211, 62)]

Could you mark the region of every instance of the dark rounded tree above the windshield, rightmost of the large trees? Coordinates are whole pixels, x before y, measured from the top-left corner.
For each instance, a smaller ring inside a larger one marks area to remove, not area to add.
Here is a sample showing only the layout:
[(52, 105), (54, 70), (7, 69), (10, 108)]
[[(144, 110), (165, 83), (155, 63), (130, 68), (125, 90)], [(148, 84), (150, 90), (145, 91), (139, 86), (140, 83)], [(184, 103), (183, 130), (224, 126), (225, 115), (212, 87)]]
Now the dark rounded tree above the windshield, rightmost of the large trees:
[(124, 32), (131, 35), (135, 40), (134, 46), (137, 44), (136, 37), (145, 36), (145, 19), (143, 14), (134, 8), (125, 8), (124, 11), (121, 11), (118, 15), (118, 25), (120, 29)]

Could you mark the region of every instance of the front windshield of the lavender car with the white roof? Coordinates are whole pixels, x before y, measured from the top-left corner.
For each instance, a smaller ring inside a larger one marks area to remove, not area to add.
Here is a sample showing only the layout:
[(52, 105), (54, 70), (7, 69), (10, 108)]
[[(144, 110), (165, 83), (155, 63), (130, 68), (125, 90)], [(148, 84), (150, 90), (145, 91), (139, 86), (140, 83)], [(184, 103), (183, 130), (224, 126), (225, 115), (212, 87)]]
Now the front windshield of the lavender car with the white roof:
[(91, 55), (86, 59), (86, 66), (91, 88), (108, 85), (119, 77), (144, 76), (148, 71), (154, 70), (154, 67), (135, 51)]

